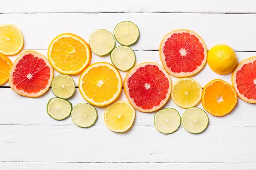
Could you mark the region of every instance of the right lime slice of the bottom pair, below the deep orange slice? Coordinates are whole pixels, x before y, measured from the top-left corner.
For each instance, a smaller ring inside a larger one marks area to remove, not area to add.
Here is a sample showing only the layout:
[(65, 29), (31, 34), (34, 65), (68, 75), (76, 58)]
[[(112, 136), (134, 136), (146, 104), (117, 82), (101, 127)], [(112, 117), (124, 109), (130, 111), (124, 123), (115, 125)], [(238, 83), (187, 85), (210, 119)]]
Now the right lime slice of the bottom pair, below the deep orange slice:
[(181, 122), (188, 132), (201, 133), (206, 129), (209, 119), (204, 110), (200, 108), (189, 108), (183, 113)]

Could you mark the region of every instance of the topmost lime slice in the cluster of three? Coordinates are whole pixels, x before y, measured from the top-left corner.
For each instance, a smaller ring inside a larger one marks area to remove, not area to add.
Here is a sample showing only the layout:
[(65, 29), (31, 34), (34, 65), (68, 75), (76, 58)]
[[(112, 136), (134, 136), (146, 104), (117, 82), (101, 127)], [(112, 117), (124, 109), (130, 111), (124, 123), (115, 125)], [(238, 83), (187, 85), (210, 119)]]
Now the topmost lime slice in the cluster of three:
[(123, 21), (114, 28), (114, 36), (119, 44), (128, 46), (138, 40), (140, 31), (131, 21)]

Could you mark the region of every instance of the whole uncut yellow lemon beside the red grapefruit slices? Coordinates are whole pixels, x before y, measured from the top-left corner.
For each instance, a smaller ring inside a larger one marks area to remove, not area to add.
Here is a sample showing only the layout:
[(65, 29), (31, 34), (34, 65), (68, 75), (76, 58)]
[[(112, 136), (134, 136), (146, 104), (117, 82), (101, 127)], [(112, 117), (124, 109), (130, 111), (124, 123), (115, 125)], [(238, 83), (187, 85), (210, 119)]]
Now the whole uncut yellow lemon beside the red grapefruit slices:
[(208, 52), (207, 63), (215, 73), (229, 74), (237, 65), (236, 53), (228, 45), (215, 45)]

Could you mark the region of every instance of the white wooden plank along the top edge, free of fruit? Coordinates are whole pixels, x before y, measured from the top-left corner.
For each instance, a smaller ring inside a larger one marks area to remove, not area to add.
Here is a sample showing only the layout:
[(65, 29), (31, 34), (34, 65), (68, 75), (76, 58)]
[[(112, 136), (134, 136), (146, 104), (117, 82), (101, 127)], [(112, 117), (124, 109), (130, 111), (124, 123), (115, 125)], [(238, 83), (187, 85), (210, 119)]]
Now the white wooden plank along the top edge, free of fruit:
[[(255, 13), (255, 1), (253, 0), (161, 0), (155, 2), (148, 0), (129, 0), (120, 3), (118, 0), (82, 1), (44, 0), (2, 0), (0, 13), (98, 13), (98, 12), (204, 12), (204, 13)], [(29, 8), (28, 8), (29, 7)]]

